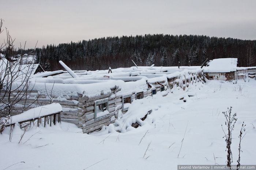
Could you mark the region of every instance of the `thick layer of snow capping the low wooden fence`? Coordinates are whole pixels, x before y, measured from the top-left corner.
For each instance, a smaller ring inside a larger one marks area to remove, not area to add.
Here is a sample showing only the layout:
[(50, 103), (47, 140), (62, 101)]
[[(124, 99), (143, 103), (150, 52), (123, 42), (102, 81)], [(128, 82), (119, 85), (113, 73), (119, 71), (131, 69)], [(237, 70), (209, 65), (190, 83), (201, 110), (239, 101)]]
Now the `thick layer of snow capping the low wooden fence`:
[(47, 115), (51, 115), (53, 113), (62, 112), (62, 107), (59, 103), (52, 103), (49, 105), (44, 105), (40, 107), (36, 107), (33, 109), (29, 109), (19, 115), (11, 116), (11, 120), (9, 120), (9, 124), (26, 121), (34, 118), (44, 117)]

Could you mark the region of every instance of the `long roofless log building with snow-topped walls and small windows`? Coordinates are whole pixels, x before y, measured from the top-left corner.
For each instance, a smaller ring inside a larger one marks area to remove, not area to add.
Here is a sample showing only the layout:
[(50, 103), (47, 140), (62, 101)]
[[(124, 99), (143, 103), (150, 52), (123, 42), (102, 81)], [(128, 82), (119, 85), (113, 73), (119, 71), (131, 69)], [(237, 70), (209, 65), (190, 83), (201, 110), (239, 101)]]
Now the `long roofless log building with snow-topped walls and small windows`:
[(173, 89), (185, 90), (189, 84), (203, 80), (198, 67), (131, 67), (112, 69), (112, 73), (71, 71), (33, 75), (32, 93), (19, 104), (32, 103), (32, 108), (59, 103), (63, 108), (61, 121), (74, 123), (84, 133), (90, 133), (113, 123), (134, 100), (158, 93), (166, 96)]

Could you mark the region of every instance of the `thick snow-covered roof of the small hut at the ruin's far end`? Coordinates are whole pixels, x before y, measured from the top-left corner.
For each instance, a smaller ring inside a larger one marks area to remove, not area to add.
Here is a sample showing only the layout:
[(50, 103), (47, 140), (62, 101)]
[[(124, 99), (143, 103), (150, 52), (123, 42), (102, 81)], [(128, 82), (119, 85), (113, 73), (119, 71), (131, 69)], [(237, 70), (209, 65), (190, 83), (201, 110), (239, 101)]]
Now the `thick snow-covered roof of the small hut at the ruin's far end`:
[(208, 63), (208, 66), (203, 67), (206, 73), (227, 73), (237, 70), (237, 58), (218, 58), (213, 59)]

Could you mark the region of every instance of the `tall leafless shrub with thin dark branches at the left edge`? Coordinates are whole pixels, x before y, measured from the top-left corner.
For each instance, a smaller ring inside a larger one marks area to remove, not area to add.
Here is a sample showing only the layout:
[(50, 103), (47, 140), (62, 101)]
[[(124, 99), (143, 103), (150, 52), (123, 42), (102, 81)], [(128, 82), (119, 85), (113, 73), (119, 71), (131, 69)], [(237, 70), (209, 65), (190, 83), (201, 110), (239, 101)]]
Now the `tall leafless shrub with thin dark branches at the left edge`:
[[(2, 26), (3, 19), (0, 20), (0, 34), (4, 31)], [(5, 28), (5, 31), (6, 39), (0, 46), (0, 50), (5, 48), (6, 51), (5, 57), (0, 58), (0, 133), (5, 128), (5, 120), (8, 116), (15, 115), (18, 112), (22, 113), (37, 101), (36, 98), (34, 102), (27, 104), (27, 99), (33, 89), (29, 79), (34, 69), (34, 62), (22, 65), (24, 60), (22, 51), (25, 49), (26, 42), (23, 49), (20, 44), (19, 51), (21, 51), (21, 54), (18, 58), (14, 58), (15, 39), (12, 39), (7, 28)]]

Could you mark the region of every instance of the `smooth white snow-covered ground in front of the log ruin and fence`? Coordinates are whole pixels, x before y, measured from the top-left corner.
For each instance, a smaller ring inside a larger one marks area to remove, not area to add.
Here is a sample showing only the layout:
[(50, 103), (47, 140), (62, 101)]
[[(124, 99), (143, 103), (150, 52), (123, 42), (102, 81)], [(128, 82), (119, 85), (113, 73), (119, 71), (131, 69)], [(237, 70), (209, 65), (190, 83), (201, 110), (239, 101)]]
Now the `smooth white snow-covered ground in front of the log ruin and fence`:
[[(187, 97), (188, 93), (195, 96)], [(180, 100), (184, 96), (186, 102)], [(246, 135), (241, 143), (241, 164), (255, 165), (255, 101), (255, 80), (237, 84), (213, 80), (190, 85), (188, 92), (174, 90), (165, 97), (158, 92), (153, 97), (136, 100), (123, 118), (94, 134), (83, 134), (75, 125), (62, 122), (52, 127), (32, 128), (18, 144), (23, 131), (15, 127), (10, 142), (7, 128), (0, 135), (0, 169), (15, 163), (8, 170), (174, 170), (182, 164), (224, 165), (226, 145), (221, 124), (225, 124), (225, 117), (222, 111), (230, 106), (238, 118), (231, 146), (233, 163), (237, 164), (238, 135), (244, 121)], [(142, 122), (142, 127), (129, 126), (148, 109), (153, 112)]]

